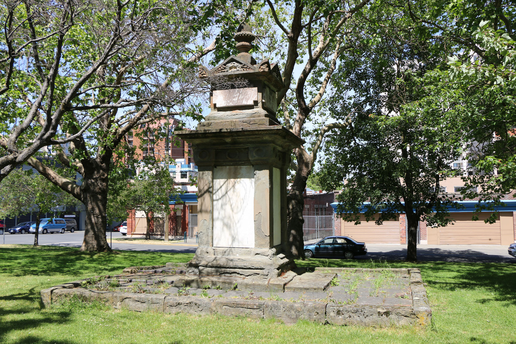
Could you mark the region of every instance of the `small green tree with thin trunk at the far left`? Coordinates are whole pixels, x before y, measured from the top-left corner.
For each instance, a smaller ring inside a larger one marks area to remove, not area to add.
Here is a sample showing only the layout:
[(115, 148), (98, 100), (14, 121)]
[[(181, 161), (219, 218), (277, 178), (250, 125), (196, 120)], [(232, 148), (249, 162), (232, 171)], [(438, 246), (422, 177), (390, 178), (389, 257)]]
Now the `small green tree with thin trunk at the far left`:
[(18, 216), (36, 211), (34, 246), (38, 246), (38, 231), (41, 215), (53, 212), (62, 206), (78, 206), (70, 194), (49, 182), (32, 170), (15, 169), (0, 183), (0, 209), (2, 216)]

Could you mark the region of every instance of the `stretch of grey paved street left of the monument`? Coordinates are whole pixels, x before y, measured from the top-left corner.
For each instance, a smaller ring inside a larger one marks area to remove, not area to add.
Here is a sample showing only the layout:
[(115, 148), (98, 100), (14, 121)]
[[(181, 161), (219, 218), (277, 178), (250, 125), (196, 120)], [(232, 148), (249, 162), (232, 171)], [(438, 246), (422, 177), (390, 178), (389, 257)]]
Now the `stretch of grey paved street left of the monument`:
[[(109, 242), (109, 235), (107, 233), (107, 242)], [(113, 238), (123, 237), (119, 232), (112, 232)], [(56, 246), (66, 246), (66, 247), (80, 247), (83, 243), (84, 231), (80, 232), (65, 232), (63, 234), (40, 234), (39, 235), (39, 244), (40, 245), (56, 245)], [(135, 243), (119, 243), (116, 241), (112, 242), (112, 248), (114, 250), (128, 250), (128, 251), (153, 251), (153, 252), (171, 252), (171, 253), (195, 253), (197, 249), (195, 244), (195, 239), (193, 239), (194, 243), (191, 243), (192, 240), (189, 240), (190, 243), (188, 246), (185, 246), (183, 242), (178, 244), (170, 244), (170, 246), (166, 245), (147, 245), (147, 244), (135, 244)], [(0, 243), (4, 242), (4, 236), (0, 236)], [(34, 243), (34, 234), (6, 234), (5, 235), (5, 243), (6, 244), (33, 244)], [(2, 246), (0, 245), (0, 248)]]

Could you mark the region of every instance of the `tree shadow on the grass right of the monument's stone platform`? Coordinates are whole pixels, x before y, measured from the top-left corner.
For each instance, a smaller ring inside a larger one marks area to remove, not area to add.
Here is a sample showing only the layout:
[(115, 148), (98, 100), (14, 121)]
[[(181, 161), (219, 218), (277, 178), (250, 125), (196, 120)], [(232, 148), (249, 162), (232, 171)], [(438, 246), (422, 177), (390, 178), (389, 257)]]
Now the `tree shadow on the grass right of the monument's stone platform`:
[(483, 289), (492, 298), (477, 300), (478, 303), (503, 301), (516, 304), (516, 269), (514, 264), (506, 263), (453, 263), (448, 261), (420, 261), (409, 263), (399, 260), (344, 260), (308, 259), (298, 260), (300, 267), (347, 267), (347, 268), (420, 268), (423, 281), (427, 286), (446, 290)]

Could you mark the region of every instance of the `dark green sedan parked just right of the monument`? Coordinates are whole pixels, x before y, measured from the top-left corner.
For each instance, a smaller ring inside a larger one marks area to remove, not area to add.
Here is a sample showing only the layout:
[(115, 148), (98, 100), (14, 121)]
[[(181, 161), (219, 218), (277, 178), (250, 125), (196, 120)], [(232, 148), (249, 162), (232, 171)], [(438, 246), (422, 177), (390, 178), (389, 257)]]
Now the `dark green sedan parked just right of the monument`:
[(364, 242), (357, 242), (350, 237), (326, 237), (314, 244), (304, 245), (307, 258), (346, 258), (367, 254)]

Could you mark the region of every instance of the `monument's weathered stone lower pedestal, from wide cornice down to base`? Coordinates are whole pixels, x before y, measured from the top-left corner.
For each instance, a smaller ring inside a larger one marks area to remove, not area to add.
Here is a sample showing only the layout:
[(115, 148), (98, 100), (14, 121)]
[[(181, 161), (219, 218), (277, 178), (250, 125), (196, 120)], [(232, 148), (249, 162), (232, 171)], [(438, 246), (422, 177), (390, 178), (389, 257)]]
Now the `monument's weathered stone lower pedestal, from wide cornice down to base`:
[(199, 167), (199, 247), (188, 274), (279, 276), (285, 254), (286, 170), (300, 144), (282, 126), (182, 132)]

